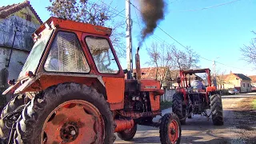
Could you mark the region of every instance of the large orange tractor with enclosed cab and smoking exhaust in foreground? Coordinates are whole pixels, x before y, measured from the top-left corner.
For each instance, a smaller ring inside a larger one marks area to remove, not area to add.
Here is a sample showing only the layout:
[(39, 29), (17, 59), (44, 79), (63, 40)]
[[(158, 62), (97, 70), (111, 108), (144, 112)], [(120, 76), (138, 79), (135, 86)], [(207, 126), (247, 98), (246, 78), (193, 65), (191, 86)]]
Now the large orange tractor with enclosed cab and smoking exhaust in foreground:
[(125, 79), (110, 42), (111, 29), (50, 18), (33, 34), (34, 46), (3, 94), (16, 96), (0, 118), (0, 138), (9, 143), (113, 143), (134, 138), (137, 125), (160, 127), (162, 143), (179, 143), (176, 114), (160, 110), (160, 82)]

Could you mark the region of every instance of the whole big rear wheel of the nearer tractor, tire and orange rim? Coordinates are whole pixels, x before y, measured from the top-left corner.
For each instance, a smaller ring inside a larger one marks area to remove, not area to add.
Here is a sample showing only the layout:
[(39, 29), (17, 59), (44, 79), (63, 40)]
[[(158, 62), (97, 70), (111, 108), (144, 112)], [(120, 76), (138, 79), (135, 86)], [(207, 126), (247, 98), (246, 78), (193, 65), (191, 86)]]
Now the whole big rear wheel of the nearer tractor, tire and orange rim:
[(26, 105), (15, 143), (113, 143), (114, 120), (102, 94), (66, 83), (50, 87)]

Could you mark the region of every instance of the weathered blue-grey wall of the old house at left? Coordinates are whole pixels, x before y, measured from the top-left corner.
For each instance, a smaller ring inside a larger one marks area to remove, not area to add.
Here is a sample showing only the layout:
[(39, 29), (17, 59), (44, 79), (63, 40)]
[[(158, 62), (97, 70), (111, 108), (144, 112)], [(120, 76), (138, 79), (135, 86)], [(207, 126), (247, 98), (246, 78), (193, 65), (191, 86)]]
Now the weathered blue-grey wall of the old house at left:
[[(31, 15), (31, 22), (26, 20), (26, 14)], [(8, 67), (8, 79), (18, 78), (18, 74), (22, 70), (22, 64), (25, 63), (34, 44), (31, 35), (39, 26), (40, 22), (28, 6), (7, 18), (0, 18), (0, 70), (6, 67), (11, 46), (14, 42), (10, 66)], [(16, 27), (18, 27), (18, 31), (14, 38)]]

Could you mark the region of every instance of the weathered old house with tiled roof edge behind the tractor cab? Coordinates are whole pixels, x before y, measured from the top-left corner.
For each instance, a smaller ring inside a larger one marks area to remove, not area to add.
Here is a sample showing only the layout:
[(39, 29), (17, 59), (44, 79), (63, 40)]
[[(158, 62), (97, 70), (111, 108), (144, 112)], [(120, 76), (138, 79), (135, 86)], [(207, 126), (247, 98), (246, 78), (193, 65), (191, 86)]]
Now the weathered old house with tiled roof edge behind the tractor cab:
[(0, 70), (7, 70), (8, 79), (18, 78), (34, 44), (31, 35), (41, 24), (29, 1), (0, 7)]

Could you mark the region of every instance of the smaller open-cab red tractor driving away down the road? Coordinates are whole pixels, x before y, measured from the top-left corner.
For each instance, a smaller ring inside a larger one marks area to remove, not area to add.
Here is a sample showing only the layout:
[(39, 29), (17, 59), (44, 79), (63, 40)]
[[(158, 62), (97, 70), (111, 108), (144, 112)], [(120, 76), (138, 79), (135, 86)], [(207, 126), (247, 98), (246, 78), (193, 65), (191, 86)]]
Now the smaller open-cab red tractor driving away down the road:
[[(208, 86), (202, 86), (202, 89), (191, 86), (191, 76), (202, 73), (206, 74)], [(186, 124), (186, 118), (192, 118), (192, 114), (201, 114), (208, 119), (211, 116), (214, 125), (223, 125), (222, 98), (216, 87), (211, 86), (210, 69), (180, 70), (177, 82), (172, 109), (182, 124)], [(207, 109), (210, 109), (209, 114)]]

